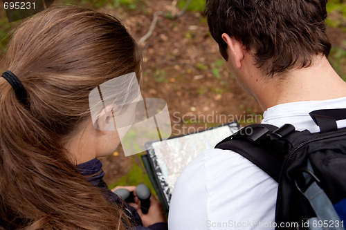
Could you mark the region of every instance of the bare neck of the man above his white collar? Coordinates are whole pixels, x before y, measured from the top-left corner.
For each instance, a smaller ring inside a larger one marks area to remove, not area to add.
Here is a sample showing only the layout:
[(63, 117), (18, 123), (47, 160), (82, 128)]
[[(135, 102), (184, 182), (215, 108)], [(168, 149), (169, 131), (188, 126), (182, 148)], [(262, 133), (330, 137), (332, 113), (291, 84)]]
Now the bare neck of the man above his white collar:
[(264, 111), (277, 104), (346, 97), (346, 82), (338, 76), (326, 57), (316, 57), (312, 66), (289, 70), (280, 79), (279, 76), (273, 79), (259, 84), (255, 94)]

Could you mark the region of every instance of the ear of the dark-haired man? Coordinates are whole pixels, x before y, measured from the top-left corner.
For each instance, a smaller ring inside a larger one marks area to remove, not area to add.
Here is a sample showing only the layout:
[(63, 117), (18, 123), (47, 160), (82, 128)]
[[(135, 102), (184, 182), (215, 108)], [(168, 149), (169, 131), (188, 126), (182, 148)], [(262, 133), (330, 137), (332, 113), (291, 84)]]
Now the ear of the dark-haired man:
[[(221, 35), (222, 39), (226, 42), (229, 52), (228, 55), (231, 55), (234, 60), (235, 67), (242, 67), (242, 60), (244, 59), (244, 48), (243, 44), (240, 41), (237, 41), (234, 36), (229, 36), (226, 33)], [(228, 57), (230, 58), (230, 57)]]

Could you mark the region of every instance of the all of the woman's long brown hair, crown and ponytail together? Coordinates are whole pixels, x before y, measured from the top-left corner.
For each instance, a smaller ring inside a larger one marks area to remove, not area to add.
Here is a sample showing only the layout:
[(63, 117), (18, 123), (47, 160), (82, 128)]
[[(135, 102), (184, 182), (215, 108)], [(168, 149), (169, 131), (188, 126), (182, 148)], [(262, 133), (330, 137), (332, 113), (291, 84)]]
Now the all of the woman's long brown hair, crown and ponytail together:
[[(64, 148), (90, 119), (89, 93), (136, 72), (140, 52), (120, 21), (78, 6), (52, 6), (10, 39), (0, 77), (0, 229), (124, 229), (122, 211), (80, 175)], [(2, 220), (1, 220), (2, 219)]]

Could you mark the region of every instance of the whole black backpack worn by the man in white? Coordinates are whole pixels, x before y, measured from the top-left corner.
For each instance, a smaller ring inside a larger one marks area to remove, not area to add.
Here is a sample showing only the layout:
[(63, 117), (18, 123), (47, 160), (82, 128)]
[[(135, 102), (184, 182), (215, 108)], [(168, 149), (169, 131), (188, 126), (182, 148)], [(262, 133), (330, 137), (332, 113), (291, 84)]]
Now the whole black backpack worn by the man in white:
[(346, 119), (345, 109), (310, 113), (320, 133), (253, 124), (215, 148), (235, 151), (279, 183), (275, 229), (345, 229)]

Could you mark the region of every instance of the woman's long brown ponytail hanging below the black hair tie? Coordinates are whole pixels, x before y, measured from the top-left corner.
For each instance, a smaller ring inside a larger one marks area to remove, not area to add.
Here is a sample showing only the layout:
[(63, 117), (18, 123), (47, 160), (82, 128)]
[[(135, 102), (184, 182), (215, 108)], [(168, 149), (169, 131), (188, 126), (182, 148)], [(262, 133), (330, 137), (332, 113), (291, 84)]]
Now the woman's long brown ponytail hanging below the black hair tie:
[(82, 178), (3, 80), (0, 92), (0, 216), (6, 229), (116, 229), (120, 209)]

